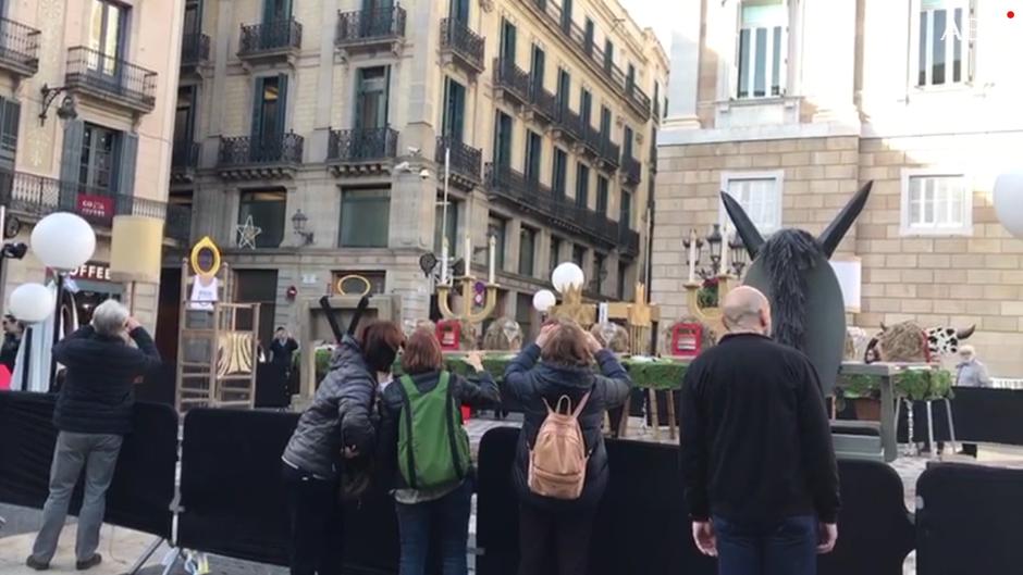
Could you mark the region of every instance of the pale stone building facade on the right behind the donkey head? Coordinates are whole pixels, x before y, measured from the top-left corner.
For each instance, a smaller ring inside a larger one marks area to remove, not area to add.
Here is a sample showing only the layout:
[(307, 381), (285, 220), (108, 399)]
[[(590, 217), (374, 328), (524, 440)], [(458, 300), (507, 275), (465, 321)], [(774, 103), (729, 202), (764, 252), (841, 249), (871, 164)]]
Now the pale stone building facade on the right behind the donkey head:
[(854, 325), (975, 324), (993, 372), (1023, 373), (1023, 242), (990, 197), (1023, 146), (1023, 36), (1004, 3), (678, 4), (653, 241), (665, 316), (686, 313), (682, 238), (724, 222), (720, 190), (765, 234), (819, 233), (874, 182), (836, 257), (862, 266)]

